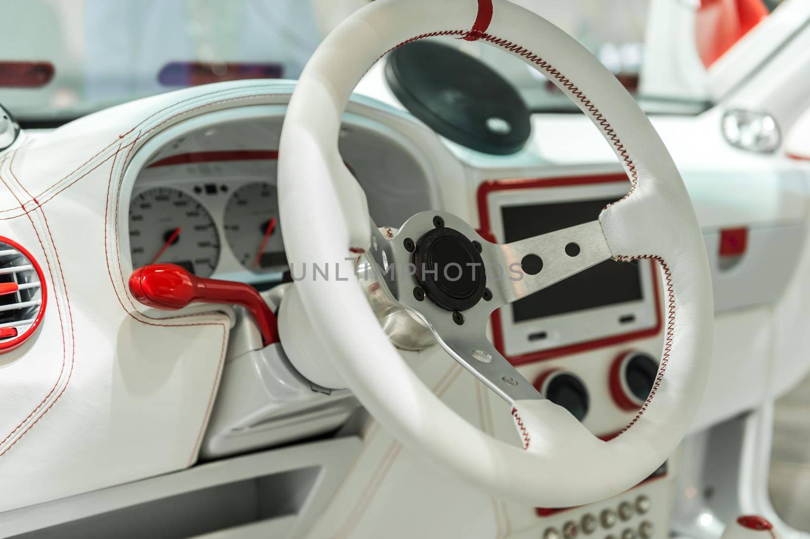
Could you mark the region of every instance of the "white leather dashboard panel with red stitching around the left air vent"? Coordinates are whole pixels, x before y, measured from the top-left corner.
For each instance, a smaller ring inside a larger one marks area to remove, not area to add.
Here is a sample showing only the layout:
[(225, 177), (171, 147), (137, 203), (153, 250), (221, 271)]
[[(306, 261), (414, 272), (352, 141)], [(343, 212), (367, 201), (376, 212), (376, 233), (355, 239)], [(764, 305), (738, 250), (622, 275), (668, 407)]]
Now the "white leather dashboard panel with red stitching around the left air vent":
[(49, 287), (39, 332), (0, 356), (0, 511), (194, 464), (230, 320), (140, 312), (126, 287), (129, 253), (118, 253), (119, 210), (125, 220), (127, 211), (119, 188), (152, 134), (231, 104), (267, 102), (279, 87), (160, 95), (0, 155), (0, 236), (32, 252)]

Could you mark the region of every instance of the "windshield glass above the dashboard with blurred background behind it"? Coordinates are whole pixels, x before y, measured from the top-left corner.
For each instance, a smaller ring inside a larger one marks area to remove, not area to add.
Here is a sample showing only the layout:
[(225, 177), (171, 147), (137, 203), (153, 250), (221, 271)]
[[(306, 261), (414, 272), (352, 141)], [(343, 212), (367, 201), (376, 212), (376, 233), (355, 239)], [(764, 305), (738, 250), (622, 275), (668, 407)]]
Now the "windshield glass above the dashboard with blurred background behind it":
[[(23, 125), (58, 125), (180, 87), (232, 79), (296, 79), (322, 37), (366, 2), (6, 2), (0, 104)], [(518, 3), (577, 38), (637, 95), (648, 112), (699, 112), (705, 108), (707, 94), (697, 44), (667, 32), (674, 26), (667, 22), (670, 11), (695, 11), (696, 2)], [(768, 6), (772, 8), (773, 3)], [(662, 11), (661, 5), (666, 9)], [(499, 70), (533, 110), (575, 110), (565, 95), (518, 58), (475, 42), (445, 42)]]

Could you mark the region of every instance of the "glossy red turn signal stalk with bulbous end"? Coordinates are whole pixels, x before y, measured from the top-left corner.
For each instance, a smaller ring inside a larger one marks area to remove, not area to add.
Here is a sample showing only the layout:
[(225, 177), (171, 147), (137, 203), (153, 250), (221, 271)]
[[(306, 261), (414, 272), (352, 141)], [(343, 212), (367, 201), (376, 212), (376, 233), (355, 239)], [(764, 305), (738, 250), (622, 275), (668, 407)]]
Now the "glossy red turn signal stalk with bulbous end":
[(140, 303), (164, 311), (177, 311), (195, 302), (241, 305), (256, 320), (264, 346), (279, 342), (275, 314), (254, 287), (244, 282), (199, 278), (175, 264), (150, 264), (132, 272), (130, 292)]

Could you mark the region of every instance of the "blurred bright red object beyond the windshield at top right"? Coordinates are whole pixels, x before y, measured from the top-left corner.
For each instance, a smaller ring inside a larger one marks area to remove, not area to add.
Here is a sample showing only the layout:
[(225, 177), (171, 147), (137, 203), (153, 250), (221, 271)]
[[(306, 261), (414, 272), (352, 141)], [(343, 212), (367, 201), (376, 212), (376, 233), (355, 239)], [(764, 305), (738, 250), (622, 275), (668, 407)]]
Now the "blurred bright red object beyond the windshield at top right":
[(762, 0), (701, 0), (695, 39), (703, 65), (711, 66), (767, 16)]

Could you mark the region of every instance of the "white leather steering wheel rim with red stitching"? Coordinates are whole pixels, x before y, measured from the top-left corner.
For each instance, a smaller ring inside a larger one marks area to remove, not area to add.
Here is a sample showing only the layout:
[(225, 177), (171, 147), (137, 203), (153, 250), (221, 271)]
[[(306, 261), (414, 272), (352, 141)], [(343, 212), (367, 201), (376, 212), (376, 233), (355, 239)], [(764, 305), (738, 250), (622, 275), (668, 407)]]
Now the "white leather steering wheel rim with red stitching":
[[(339, 155), (343, 110), (373, 62), (430, 36), (481, 40), (522, 57), (590, 117), (631, 179), (628, 195), (605, 208), (598, 223), (614, 259), (654, 258), (662, 265), (667, 335), (650, 397), (610, 442), (544, 400), (514, 399), (522, 449), (472, 427), (403, 361), (356, 278), (338, 278), (351, 276), (358, 253), (372, 248), (374, 228), (364, 193)], [(637, 484), (686, 434), (706, 385), (714, 316), (689, 194), (625, 88), (539, 15), (506, 0), (377, 0), (357, 11), (322, 42), (290, 100), (279, 144), (279, 210), (291, 264), (334, 267), (334, 278), (298, 281), (296, 293), (335, 369), (384, 427), (440, 469), (502, 499), (571, 506)]]

